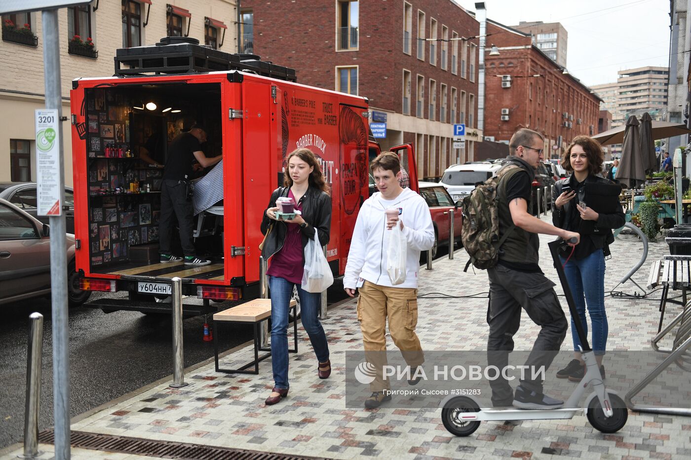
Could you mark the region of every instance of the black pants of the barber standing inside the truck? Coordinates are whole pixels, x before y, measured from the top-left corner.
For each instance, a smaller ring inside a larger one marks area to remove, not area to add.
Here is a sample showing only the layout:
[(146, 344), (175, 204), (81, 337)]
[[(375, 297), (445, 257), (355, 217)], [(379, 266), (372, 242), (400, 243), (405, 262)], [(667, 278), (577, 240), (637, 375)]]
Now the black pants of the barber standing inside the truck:
[(158, 252), (171, 253), (171, 240), (176, 224), (180, 228), (180, 244), (185, 256), (196, 256), (192, 232), (194, 231), (192, 201), (187, 199), (187, 184), (165, 179), (161, 184), (161, 217), (158, 224)]

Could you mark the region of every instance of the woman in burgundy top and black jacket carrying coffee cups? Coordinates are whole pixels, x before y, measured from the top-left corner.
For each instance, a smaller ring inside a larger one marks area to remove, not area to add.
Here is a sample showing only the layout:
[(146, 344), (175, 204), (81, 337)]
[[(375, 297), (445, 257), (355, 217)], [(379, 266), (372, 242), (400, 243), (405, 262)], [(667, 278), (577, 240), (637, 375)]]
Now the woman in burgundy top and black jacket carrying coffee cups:
[(271, 290), (274, 389), (265, 401), (267, 405), (278, 403), (288, 394), (287, 329), (293, 286), (297, 287), (300, 297), (303, 326), (310, 336), (319, 362), (317, 374), (319, 378), (328, 378), (331, 374), (329, 347), (318, 316), (321, 294), (307, 292), (301, 287), (307, 240), (314, 240), (317, 233), (320, 245), (329, 242), (329, 186), (324, 181), (319, 163), (309, 148), (299, 148), (290, 153), (286, 162), (283, 186), (272, 193), (261, 222), (261, 232), (267, 235), (262, 256), (264, 260), (271, 260), (267, 276)]

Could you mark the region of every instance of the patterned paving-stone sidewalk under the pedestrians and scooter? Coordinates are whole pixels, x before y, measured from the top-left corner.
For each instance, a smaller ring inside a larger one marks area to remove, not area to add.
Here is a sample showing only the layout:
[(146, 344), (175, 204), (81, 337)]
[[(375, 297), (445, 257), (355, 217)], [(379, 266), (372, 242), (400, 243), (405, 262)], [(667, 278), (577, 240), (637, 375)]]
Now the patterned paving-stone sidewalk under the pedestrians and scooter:
[[(547, 249), (551, 239), (541, 237), (540, 260), (547, 276), (556, 280)], [(634, 236), (623, 235), (612, 251), (605, 291), (638, 260), (642, 245)], [(647, 262), (634, 276), (640, 285), (645, 285), (652, 260), (667, 252), (664, 242), (651, 243)], [(435, 262), (432, 271), (422, 269), (419, 294), (458, 296), (488, 291), (486, 271), (462, 272), (466, 260), (466, 253), (460, 250), (455, 260), (444, 258)], [(560, 287), (556, 289), (561, 293)], [(632, 293), (638, 288), (628, 282), (618, 290)], [(654, 298), (659, 293), (651, 297), (607, 297), (608, 349), (650, 349), (659, 317)], [(187, 374), (187, 387), (158, 385), (73, 423), (72, 429), (333, 459), (691, 457), (691, 418), (683, 416), (630, 412), (628, 423), (615, 434), (594, 430), (583, 415), (571, 420), (523, 421), (515, 426), (484, 422), (470, 437), (457, 438), (444, 429), (440, 410), (346, 409), (345, 351), (362, 347), (355, 305), (354, 300), (345, 302), (323, 321), (334, 367), (328, 380), (316, 376), (316, 358), (304, 330), (299, 329), (300, 353), (290, 355), (290, 394), (278, 405), (263, 403), (273, 386), (270, 359), (261, 363), (258, 376), (218, 374), (211, 363)], [(424, 349), (485, 349), (486, 305), (486, 298), (421, 298), (417, 332)], [(670, 310), (671, 317), (678, 307)], [(515, 348), (530, 349), (537, 332), (538, 327), (524, 315)], [(223, 330), (215, 333), (223, 334)], [(390, 336), (387, 341), (389, 349), (394, 349)], [(562, 349), (571, 349), (570, 333)], [(252, 348), (246, 347), (232, 359), (224, 358), (222, 365), (249, 361), (251, 354)]]

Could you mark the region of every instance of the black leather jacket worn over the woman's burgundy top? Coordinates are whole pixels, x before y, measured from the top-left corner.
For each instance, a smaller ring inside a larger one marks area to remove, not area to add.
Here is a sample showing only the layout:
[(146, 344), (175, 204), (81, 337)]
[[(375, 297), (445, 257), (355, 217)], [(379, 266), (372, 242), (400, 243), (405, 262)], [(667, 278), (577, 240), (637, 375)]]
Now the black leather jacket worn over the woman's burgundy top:
[[(285, 241), (287, 224), (280, 220), (272, 220), (266, 215), (269, 208), (276, 207), (276, 200), (279, 196), (287, 196), (290, 187), (278, 187), (269, 198), (269, 205), (264, 210), (264, 218), (261, 221), (261, 233), (266, 235), (269, 224), (273, 222), (274, 229), (264, 243), (261, 255), (264, 260), (273, 256), (281, 250)], [(325, 246), (329, 242), (331, 234), (331, 197), (328, 193), (308, 187), (305, 194), (300, 198), (302, 203), (302, 218), (307, 222), (307, 227), (301, 229), (303, 249), (307, 246), (307, 240), (314, 240), (314, 231), (319, 231), (319, 244)]]

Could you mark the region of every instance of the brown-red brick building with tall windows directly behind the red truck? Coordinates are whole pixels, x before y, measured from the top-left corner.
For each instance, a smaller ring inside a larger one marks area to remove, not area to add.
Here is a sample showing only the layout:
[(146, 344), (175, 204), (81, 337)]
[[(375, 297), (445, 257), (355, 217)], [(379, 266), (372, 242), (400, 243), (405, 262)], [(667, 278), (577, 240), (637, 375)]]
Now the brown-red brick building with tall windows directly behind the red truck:
[[(420, 178), (473, 158), (482, 141), (480, 24), (466, 10), (451, 0), (296, 0), (281, 8), (240, 3), (241, 50), (295, 68), (299, 83), (368, 97), (375, 118), (386, 114), (382, 148), (413, 143)], [(455, 149), (451, 125), (462, 122), (466, 148)]]

